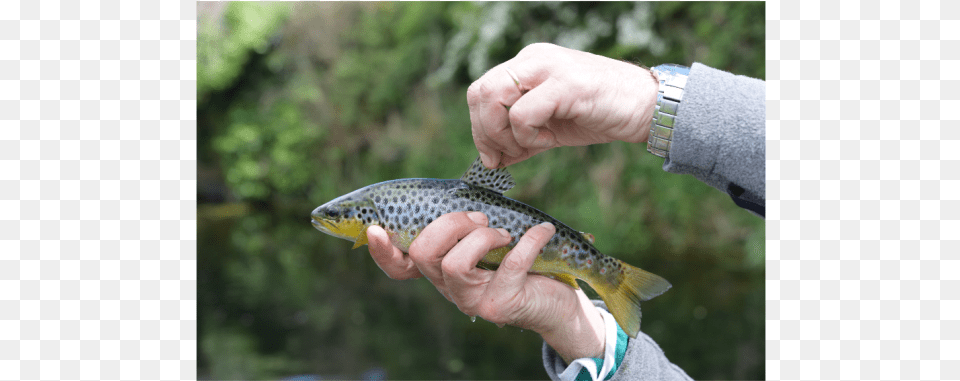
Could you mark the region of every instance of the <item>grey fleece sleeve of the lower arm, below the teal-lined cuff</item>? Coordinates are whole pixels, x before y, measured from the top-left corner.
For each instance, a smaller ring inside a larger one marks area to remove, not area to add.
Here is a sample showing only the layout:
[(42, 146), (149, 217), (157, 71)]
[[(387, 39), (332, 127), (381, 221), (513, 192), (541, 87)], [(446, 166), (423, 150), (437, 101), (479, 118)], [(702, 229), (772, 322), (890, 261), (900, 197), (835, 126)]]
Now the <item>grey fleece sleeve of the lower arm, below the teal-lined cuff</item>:
[[(606, 309), (603, 302), (594, 300), (593, 304)], [(629, 339), (627, 352), (623, 355), (623, 362), (613, 373), (610, 381), (626, 380), (656, 380), (656, 381), (690, 381), (690, 376), (683, 369), (667, 360), (663, 350), (650, 336), (640, 332), (637, 338)], [(543, 367), (551, 380), (559, 381), (560, 373), (567, 368), (567, 363), (547, 343), (543, 343)]]

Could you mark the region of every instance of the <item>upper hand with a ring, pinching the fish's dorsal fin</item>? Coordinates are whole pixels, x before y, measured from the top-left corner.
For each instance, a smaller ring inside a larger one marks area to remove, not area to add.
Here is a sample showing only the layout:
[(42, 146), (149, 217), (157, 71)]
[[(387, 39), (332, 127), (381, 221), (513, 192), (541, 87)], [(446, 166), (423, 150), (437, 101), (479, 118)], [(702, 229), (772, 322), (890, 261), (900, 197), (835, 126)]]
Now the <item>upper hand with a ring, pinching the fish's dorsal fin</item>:
[(467, 89), (473, 141), (488, 168), (554, 147), (644, 142), (656, 99), (648, 70), (546, 43), (528, 45)]

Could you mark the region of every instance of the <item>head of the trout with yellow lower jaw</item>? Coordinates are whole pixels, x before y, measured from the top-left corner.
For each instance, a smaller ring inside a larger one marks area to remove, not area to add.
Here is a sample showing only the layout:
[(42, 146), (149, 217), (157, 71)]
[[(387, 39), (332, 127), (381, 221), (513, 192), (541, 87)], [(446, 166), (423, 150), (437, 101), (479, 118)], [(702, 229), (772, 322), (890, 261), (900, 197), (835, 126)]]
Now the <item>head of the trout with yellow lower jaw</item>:
[(367, 227), (380, 223), (373, 201), (357, 192), (318, 206), (310, 213), (310, 220), (321, 232), (356, 242), (354, 247), (367, 243)]

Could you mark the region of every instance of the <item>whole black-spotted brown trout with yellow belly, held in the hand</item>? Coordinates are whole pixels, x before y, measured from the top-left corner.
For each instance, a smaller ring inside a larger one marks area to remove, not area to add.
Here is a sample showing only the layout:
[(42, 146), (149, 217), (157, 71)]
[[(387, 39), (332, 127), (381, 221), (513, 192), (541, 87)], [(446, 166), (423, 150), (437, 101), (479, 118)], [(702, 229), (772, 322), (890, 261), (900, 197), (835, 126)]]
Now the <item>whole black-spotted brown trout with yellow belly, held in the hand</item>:
[(507, 246), (481, 259), (478, 267), (496, 269), (520, 236), (542, 222), (556, 234), (543, 248), (530, 272), (551, 277), (575, 289), (577, 279), (590, 285), (630, 337), (640, 331), (640, 302), (670, 288), (665, 279), (608, 257), (593, 247), (594, 237), (570, 228), (527, 204), (503, 196), (515, 185), (506, 168), (487, 169), (478, 158), (459, 180), (400, 179), (360, 188), (323, 204), (311, 213), (313, 226), (334, 237), (367, 244), (367, 228), (379, 225), (394, 246), (407, 252), (433, 220), (452, 212), (477, 211), (489, 226), (513, 237)]

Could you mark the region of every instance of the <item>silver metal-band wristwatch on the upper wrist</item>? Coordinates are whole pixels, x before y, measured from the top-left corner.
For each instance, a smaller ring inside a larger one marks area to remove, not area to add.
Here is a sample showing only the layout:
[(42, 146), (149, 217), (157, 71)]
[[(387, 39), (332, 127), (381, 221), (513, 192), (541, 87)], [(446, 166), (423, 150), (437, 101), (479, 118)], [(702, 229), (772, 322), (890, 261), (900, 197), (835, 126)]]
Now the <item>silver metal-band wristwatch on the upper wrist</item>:
[(653, 121), (650, 123), (650, 137), (647, 138), (647, 151), (666, 158), (670, 155), (673, 126), (677, 121), (677, 109), (683, 100), (683, 88), (687, 85), (690, 68), (663, 64), (650, 71), (660, 85), (657, 91), (657, 106), (653, 110)]

